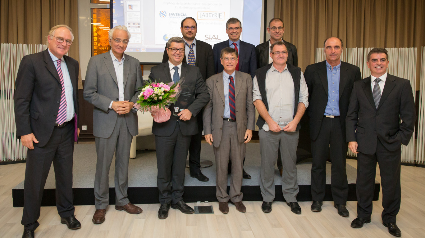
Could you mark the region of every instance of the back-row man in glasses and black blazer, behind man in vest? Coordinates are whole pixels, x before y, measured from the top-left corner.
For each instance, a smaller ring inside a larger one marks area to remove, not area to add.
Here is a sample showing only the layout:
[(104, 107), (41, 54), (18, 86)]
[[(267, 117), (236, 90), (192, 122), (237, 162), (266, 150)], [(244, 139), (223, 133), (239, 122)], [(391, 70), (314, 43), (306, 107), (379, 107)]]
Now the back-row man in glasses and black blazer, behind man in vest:
[(257, 56), (257, 68), (261, 68), (273, 62), (272, 58), (269, 56), (270, 45), (277, 41), (282, 41), (283, 43), (285, 43), (286, 49), (288, 49), (288, 61), (286, 63), (292, 64), (297, 67), (297, 47), (295, 47), (295, 45), (291, 44), (290, 42), (284, 41), (282, 38), (283, 33), (285, 32), (283, 20), (277, 17), (270, 20), (267, 32), (270, 34), (270, 39), (255, 47), (255, 55)]

